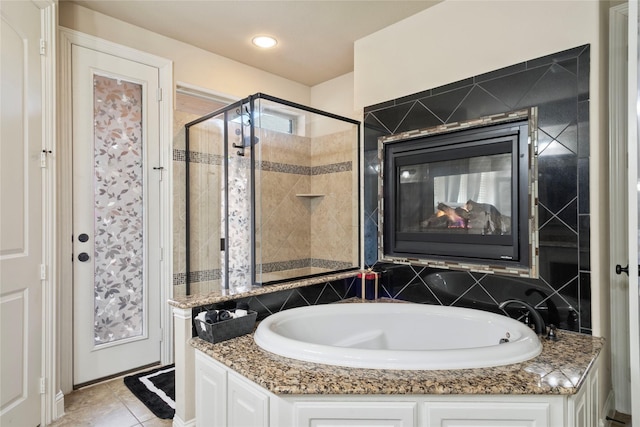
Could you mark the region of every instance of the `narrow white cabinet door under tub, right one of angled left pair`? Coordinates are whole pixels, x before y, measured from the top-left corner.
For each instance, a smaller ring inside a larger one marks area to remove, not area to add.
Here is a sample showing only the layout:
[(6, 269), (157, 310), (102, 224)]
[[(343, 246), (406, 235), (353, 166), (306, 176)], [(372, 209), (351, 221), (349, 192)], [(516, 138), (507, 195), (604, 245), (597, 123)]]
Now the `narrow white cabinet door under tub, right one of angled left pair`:
[(269, 396), (234, 373), (229, 373), (227, 382), (227, 426), (269, 426)]

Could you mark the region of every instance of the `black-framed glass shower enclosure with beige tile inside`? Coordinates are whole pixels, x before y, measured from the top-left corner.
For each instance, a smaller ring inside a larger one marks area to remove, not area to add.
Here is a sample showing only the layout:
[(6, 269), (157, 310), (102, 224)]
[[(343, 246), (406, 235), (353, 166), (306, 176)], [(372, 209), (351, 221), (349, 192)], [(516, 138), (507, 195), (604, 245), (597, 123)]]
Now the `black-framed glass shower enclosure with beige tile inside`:
[(188, 295), (359, 268), (359, 122), (258, 93), (185, 128)]

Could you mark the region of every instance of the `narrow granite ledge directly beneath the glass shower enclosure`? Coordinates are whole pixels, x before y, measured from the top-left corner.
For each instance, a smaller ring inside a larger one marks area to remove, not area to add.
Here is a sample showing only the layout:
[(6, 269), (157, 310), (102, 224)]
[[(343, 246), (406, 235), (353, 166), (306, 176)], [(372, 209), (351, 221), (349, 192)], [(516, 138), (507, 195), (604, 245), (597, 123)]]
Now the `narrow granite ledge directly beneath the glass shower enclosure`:
[(273, 292), (286, 291), (289, 289), (302, 288), (304, 286), (317, 285), (319, 283), (333, 282), (334, 280), (348, 279), (355, 277), (360, 273), (360, 270), (347, 271), (343, 273), (327, 274), (317, 277), (311, 277), (301, 280), (292, 280), (290, 282), (278, 283), (267, 286), (253, 286), (250, 289), (243, 289), (242, 291), (233, 291), (221, 289), (215, 292), (211, 292), (205, 295), (187, 295), (179, 298), (170, 299), (169, 305), (181, 308), (190, 309), (196, 307), (202, 307), (205, 305), (217, 304), (220, 302), (231, 301), (238, 298), (246, 298), (255, 295), (270, 294)]

